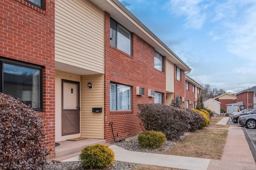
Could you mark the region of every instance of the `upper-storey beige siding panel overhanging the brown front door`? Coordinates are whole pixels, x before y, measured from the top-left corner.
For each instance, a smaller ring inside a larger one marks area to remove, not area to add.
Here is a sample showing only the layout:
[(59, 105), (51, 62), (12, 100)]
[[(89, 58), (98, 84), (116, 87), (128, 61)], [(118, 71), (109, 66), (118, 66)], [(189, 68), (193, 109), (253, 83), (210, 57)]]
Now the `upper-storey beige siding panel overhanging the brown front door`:
[(104, 73), (104, 12), (88, 0), (55, 1), (55, 61)]

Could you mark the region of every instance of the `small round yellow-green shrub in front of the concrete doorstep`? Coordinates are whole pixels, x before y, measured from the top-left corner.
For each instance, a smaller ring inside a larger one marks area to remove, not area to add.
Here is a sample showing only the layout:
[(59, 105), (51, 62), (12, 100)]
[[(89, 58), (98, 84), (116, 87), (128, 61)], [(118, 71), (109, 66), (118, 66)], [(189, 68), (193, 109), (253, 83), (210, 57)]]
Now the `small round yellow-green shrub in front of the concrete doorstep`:
[(106, 168), (114, 165), (114, 152), (111, 148), (104, 144), (96, 144), (87, 146), (82, 149), (79, 160), (85, 168)]

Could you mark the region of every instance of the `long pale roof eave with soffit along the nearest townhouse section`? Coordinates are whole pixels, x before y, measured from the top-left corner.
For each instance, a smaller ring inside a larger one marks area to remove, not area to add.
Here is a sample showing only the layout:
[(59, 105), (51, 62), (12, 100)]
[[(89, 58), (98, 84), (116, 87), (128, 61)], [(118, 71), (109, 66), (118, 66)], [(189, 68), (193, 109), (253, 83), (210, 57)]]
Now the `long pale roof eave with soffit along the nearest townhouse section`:
[(179, 68), (185, 72), (191, 71), (191, 68), (184, 63), (184, 61), (182, 61), (166, 44), (154, 35), (154, 33), (152, 33), (118, 0), (90, 0), (90, 2), (98, 6), (103, 11), (108, 12), (111, 18), (149, 43), (158, 53), (165, 56), (166, 59), (176, 64)]

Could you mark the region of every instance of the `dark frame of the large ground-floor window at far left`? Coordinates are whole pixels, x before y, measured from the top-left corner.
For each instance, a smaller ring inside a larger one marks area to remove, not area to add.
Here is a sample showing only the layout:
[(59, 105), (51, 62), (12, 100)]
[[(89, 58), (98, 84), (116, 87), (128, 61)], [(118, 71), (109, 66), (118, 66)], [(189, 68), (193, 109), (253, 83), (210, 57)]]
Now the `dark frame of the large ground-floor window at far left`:
[(31, 68), (31, 69), (36, 69), (40, 71), (40, 107), (39, 108), (33, 108), (36, 111), (43, 111), (43, 67), (35, 64), (30, 64), (30, 63), (25, 63), (21, 61), (15, 61), (12, 59), (5, 59), (0, 57), (0, 92), (4, 92), (4, 64), (10, 64), (14, 66), (20, 66), (24, 68)]

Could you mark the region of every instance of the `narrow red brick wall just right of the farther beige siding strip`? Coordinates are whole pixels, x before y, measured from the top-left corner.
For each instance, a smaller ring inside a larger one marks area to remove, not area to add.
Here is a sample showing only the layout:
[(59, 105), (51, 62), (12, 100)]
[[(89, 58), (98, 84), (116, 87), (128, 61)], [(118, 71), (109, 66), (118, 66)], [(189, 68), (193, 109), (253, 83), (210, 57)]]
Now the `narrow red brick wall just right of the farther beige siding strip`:
[[(176, 98), (177, 94), (180, 95), (180, 97), (185, 97), (185, 74), (184, 70), (181, 70), (181, 80), (176, 79), (176, 66), (174, 67), (174, 99)], [(181, 107), (184, 108), (186, 102), (182, 102), (180, 100)]]

